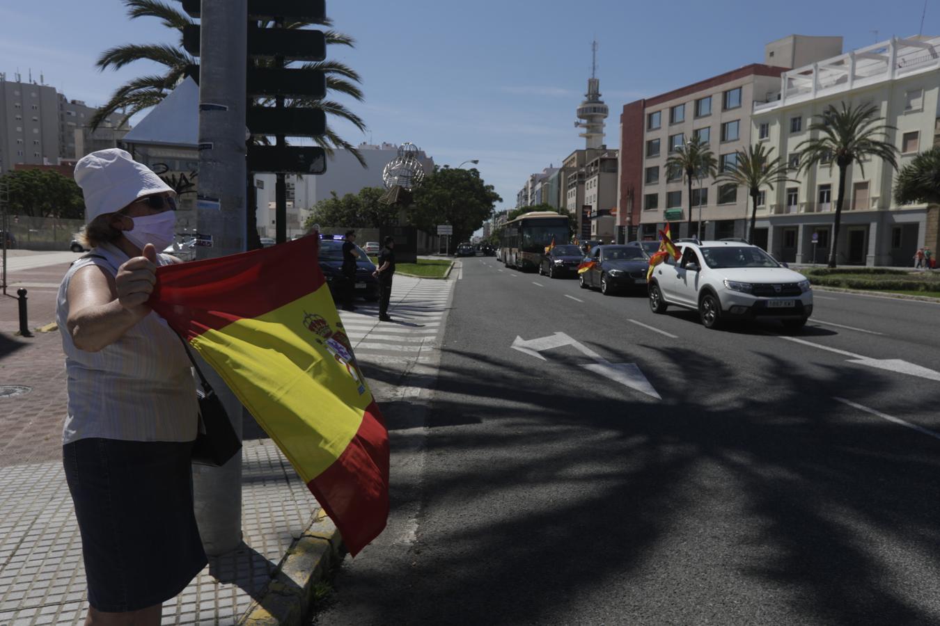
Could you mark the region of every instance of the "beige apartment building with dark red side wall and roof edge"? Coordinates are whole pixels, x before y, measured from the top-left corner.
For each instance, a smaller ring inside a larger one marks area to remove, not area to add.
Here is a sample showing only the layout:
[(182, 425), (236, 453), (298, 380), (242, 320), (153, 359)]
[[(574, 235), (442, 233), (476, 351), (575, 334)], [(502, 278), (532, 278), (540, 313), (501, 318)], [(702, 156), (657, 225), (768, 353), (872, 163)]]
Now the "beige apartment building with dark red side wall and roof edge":
[[(776, 58), (816, 60), (841, 53), (841, 38), (791, 36), (765, 47), (762, 64), (713, 76), (695, 84), (641, 99), (620, 115), (619, 202), (616, 224), (629, 239), (653, 238), (671, 222), (674, 236), (744, 237), (746, 193), (734, 186), (713, 187), (713, 178), (695, 181), (692, 197), (682, 173), (670, 172), (666, 160), (692, 139), (709, 145), (719, 169), (732, 166), (737, 151), (752, 144), (751, 112), (779, 90), (788, 68), (770, 65)], [(689, 224), (689, 209), (692, 209)]]

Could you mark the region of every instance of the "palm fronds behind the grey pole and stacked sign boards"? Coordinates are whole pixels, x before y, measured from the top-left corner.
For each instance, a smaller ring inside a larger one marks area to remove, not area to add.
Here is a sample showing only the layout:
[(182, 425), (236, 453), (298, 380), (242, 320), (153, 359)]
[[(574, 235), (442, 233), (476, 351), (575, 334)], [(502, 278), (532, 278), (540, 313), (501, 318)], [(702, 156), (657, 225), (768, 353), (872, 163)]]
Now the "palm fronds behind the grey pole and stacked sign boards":
[[(130, 43), (117, 46), (106, 50), (98, 59), (98, 69), (120, 69), (134, 61), (146, 60), (153, 61), (164, 66), (162, 74), (151, 74), (141, 76), (133, 81), (124, 84), (115, 91), (111, 99), (105, 104), (98, 113), (95, 114), (89, 124), (92, 130), (97, 129), (104, 119), (118, 111), (123, 112), (120, 125), (123, 125), (131, 116), (159, 104), (177, 84), (184, 78), (186, 67), (196, 63), (196, 59), (182, 48), (182, 31), (187, 24), (194, 23), (192, 19), (180, 8), (167, 4), (162, 0), (123, 0), (124, 6), (128, 8), (128, 15), (131, 19), (140, 17), (154, 17), (160, 19), (164, 26), (171, 28), (179, 34), (175, 45), (160, 44), (136, 44)], [(329, 19), (321, 23), (325, 26), (332, 25)], [(270, 23), (261, 23), (262, 27), (270, 26)], [(301, 28), (310, 25), (305, 22), (287, 23), (287, 28)], [(327, 45), (355, 46), (355, 39), (337, 33), (335, 30), (326, 30), (323, 32)], [(272, 63), (273, 61), (267, 61)], [(256, 61), (261, 63), (261, 61)], [(320, 61), (317, 63), (305, 63), (304, 69), (320, 69), (326, 75), (327, 91), (345, 94), (362, 101), (363, 93), (357, 84), (362, 83), (358, 72), (349, 66), (338, 61)], [(264, 100), (258, 100), (258, 103), (264, 103)], [(320, 108), (327, 113), (338, 118), (345, 119), (352, 123), (359, 130), (366, 130), (366, 124), (361, 117), (355, 115), (343, 104), (334, 99), (294, 99), (289, 100), (287, 106), (305, 106)], [(327, 124), (326, 133), (314, 140), (321, 145), (328, 154), (333, 154), (336, 148), (345, 148), (349, 150), (357, 160), (366, 166), (366, 161), (356, 148), (343, 140), (336, 131), (332, 130)]]

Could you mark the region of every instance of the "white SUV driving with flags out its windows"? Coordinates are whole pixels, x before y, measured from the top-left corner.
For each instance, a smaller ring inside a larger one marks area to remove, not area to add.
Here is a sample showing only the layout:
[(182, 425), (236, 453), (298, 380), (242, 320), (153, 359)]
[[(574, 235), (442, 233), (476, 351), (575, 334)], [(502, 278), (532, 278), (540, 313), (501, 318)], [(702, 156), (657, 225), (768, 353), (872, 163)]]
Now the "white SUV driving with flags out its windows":
[(653, 313), (676, 305), (697, 311), (705, 328), (730, 319), (776, 319), (787, 328), (801, 328), (813, 312), (807, 277), (757, 246), (702, 241), (679, 248), (679, 263), (669, 257), (650, 276)]

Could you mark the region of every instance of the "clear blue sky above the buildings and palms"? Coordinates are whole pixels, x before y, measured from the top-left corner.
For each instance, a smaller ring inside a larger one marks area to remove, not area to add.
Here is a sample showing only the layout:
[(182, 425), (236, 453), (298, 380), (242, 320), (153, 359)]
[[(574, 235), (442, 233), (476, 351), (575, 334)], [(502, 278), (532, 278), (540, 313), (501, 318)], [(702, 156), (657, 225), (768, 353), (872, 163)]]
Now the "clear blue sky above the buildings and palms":
[[(327, 0), (337, 30), (357, 39), (354, 50), (328, 54), (362, 74), (366, 100), (348, 104), (369, 132), (337, 129), (352, 144), (413, 142), (440, 164), (479, 159), (501, 207), (513, 206), (526, 176), (584, 145), (573, 122), (593, 38), (611, 110), (606, 141), (619, 147), (627, 102), (762, 62), (765, 43), (793, 33), (841, 35), (846, 51), (917, 34), (923, 8), (923, 0)], [(928, 0), (924, 33), (940, 34), (940, 0)], [(37, 81), (41, 71), (89, 105), (156, 69), (99, 72), (104, 49), (174, 40), (156, 20), (128, 20), (120, 0), (0, 0), (0, 71), (12, 78), (19, 69), (25, 80), (31, 68)]]

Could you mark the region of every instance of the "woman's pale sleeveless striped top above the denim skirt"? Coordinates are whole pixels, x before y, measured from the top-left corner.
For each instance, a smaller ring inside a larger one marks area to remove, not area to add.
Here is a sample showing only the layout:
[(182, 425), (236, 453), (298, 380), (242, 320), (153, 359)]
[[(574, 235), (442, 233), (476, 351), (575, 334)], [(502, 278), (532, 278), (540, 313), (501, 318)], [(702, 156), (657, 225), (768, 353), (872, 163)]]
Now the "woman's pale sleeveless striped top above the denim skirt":
[[(164, 318), (149, 313), (114, 344), (99, 352), (79, 350), (66, 327), (69, 282), (82, 267), (112, 276), (129, 257), (104, 244), (80, 258), (59, 286), (55, 320), (62, 335), (69, 407), (63, 445), (86, 437), (126, 441), (192, 441), (196, 438), (196, 382), (180, 338)], [(172, 260), (158, 254), (159, 265)]]

